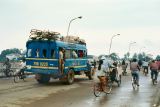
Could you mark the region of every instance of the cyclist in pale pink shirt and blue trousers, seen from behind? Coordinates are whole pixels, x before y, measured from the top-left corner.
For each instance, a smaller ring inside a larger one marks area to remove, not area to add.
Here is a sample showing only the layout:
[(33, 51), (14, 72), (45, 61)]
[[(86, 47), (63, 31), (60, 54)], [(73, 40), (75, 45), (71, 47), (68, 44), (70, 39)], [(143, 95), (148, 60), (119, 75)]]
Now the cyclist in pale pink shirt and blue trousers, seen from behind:
[(137, 79), (137, 86), (139, 86), (139, 72), (140, 72), (140, 68), (139, 65), (137, 63), (137, 59), (133, 59), (131, 64), (130, 64), (130, 69), (131, 69), (131, 74), (132, 77), (136, 77)]

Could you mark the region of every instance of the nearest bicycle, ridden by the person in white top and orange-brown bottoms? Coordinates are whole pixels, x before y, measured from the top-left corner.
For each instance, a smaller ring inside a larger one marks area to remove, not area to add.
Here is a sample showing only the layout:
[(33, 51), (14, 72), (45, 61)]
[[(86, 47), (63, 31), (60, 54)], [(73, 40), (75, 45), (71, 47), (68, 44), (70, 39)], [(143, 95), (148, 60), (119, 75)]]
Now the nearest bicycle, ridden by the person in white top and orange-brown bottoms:
[(102, 83), (100, 83), (100, 82), (94, 83), (93, 92), (94, 92), (94, 95), (96, 97), (99, 97), (102, 92), (104, 92), (106, 94), (110, 94), (111, 93), (111, 91), (112, 91), (112, 81), (110, 79), (109, 72), (106, 73), (106, 78), (105, 79), (106, 79), (105, 91), (102, 88)]

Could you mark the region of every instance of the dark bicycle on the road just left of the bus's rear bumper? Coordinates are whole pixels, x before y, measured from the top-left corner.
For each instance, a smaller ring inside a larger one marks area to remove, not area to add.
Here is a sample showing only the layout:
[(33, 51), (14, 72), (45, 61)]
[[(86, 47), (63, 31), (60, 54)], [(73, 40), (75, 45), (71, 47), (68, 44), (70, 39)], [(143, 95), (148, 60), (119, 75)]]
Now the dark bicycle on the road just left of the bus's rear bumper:
[(24, 70), (24, 69), (20, 69), (18, 72), (16, 72), (14, 74), (14, 82), (15, 83), (18, 83), (20, 80), (25, 82), (26, 75), (25, 75), (24, 71), (22, 71), (22, 70)]

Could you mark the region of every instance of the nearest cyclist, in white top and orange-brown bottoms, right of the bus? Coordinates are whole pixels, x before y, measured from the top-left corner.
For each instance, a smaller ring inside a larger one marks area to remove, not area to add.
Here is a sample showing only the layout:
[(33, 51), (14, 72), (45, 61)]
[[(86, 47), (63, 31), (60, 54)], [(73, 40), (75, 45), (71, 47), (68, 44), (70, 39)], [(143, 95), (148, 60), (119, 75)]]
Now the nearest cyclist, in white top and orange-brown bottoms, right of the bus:
[(101, 83), (101, 87), (102, 87), (102, 91), (105, 92), (105, 87), (106, 87), (106, 66), (104, 64), (104, 61), (101, 59), (99, 60), (99, 65), (98, 65), (98, 69), (97, 69), (97, 77), (100, 80)]

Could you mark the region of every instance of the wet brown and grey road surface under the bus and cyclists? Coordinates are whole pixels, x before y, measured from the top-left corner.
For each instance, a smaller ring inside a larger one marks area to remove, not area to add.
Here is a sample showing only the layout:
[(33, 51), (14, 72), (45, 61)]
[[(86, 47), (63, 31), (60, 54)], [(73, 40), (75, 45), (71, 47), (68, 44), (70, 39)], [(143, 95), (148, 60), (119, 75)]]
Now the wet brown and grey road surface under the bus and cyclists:
[(131, 76), (122, 77), (120, 87), (114, 84), (112, 93), (93, 95), (93, 80), (77, 76), (73, 85), (64, 85), (58, 80), (38, 84), (33, 78), (26, 82), (13, 83), (0, 79), (0, 107), (152, 107), (156, 88), (150, 76), (140, 76), (140, 87), (133, 90)]

